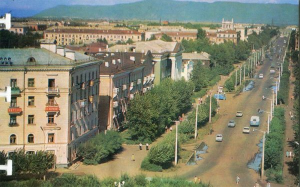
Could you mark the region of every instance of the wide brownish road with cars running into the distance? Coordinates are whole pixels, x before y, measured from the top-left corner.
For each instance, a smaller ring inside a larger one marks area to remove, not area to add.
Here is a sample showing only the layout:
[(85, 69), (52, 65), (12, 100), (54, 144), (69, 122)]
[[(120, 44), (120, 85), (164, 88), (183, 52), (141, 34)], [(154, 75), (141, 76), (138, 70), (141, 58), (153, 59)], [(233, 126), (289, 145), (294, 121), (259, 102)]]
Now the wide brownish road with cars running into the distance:
[[(242, 129), (249, 127), (250, 117), (255, 115), (260, 116), (260, 125), (257, 129), (266, 131), (268, 114), (258, 114), (257, 110), (258, 108), (270, 110), (270, 101), (262, 101), (262, 95), (272, 98), (272, 90), (269, 87), (275, 85), (275, 79), (272, 77), (277, 77), (277, 73), (269, 74), (270, 65), (271, 62), (278, 60), (276, 56), (279, 48), (282, 48), (284, 39), (286, 38), (278, 38), (273, 60), (265, 58), (264, 64), (256, 68), (257, 78), (252, 79), (255, 86), (251, 91), (242, 92), (235, 97), (233, 94), (226, 94), (227, 100), (220, 101), (220, 118), (213, 126), (214, 132), (203, 140), (208, 145), (208, 153), (202, 154), (203, 160), (197, 161), (195, 166), (190, 166), (192, 170), (183, 173), (181, 177), (192, 180), (194, 176), (197, 176), (204, 182), (210, 182), (213, 187), (236, 186), (236, 175), (239, 175), (240, 187), (253, 187), (256, 181), (259, 182), (259, 174), (248, 169), (247, 162), (257, 153), (256, 144), (259, 143), (263, 133), (253, 132), (251, 127), (250, 134), (242, 134)], [(277, 46), (278, 44), (280, 47)], [(263, 79), (258, 79), (259, 73), (263, 73)], [(242, 111), (243, 116), (235, 117), (236, 111)], [(229, 120), (235, 120), (234, 128), (227, 127)], [(216, 134), (223, 135), (222, 142), (215, 142)]]

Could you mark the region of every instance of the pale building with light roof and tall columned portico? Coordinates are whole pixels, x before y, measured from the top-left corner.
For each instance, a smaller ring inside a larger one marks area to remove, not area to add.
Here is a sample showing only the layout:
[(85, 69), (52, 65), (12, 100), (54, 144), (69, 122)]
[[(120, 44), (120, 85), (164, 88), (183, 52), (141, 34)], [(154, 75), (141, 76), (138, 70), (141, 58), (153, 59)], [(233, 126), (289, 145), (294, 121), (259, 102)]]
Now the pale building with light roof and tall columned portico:
[(157, 85), (166, 77), (178, 81), (181, 79), (181, 64), (183, 47), (178, 42), (162, 40), (138, 41), (130, 45), (114, 45), (108, 49), (111, 52), (141, 52), (150, 51), (155, 61), (154, 84)]

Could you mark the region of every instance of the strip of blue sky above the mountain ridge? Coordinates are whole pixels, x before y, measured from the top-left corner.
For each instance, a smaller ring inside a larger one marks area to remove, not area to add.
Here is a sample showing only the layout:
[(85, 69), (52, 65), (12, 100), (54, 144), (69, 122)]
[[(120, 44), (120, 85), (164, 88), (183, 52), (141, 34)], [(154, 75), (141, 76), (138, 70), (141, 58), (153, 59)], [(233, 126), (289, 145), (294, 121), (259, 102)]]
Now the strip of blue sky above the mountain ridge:
[[(111, 5), (118, 3), (129, 3), (140, 0), (0, 0), (0, 15), (11, 10), (12, 16), (22, 17), (30, 16), (47, 8), (59, 4), (90, 4), (90, 5)], [(214, 2), (214, 1), (236, 1), (248, 3), (290, 3), (298, 4), (298, 0), (180, 0), (180, 1), (197, 1), (197, 2)]]

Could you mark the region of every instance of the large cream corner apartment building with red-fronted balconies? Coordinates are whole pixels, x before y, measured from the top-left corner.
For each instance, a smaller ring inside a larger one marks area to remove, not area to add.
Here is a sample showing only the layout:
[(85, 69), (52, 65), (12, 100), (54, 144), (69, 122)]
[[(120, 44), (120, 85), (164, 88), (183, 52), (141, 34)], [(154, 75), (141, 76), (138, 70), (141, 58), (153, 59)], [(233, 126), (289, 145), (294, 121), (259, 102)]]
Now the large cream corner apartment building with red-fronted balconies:
[(0, 49), (0, 88), (11, 86), (11, 102), (0, 99), (0, 150), (43, 150), (65, 167), (98, 133), (100, 63), (55, 44), (40, 47)]

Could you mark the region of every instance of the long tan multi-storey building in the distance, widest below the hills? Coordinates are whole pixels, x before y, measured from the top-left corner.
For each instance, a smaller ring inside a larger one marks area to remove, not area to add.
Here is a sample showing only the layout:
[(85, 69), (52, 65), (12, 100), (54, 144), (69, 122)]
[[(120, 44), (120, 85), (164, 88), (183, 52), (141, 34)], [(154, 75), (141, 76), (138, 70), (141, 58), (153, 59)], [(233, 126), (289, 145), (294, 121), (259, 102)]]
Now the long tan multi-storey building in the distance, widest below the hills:
[(141, 33), (136, 30), (101, 30), (101, 29), (68, 29), (57, 28), (44, 30), (43, 39), (56, 40), (59, 45), (92, 43), (97, 39), (106, 39), (108, 42), (141, 41)]

